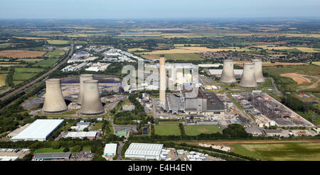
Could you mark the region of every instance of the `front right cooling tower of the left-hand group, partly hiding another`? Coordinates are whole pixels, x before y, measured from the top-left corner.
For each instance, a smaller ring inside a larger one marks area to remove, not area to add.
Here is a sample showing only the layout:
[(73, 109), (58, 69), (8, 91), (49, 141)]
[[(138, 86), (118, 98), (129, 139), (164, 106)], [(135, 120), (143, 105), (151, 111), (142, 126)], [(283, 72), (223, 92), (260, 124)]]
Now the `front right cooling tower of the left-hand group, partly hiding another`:
[(99, 115), (105, 113), (99, 96), (98, 81), (89, 79), (83, 81), (84, 93), (80, 113), (82, 115)]

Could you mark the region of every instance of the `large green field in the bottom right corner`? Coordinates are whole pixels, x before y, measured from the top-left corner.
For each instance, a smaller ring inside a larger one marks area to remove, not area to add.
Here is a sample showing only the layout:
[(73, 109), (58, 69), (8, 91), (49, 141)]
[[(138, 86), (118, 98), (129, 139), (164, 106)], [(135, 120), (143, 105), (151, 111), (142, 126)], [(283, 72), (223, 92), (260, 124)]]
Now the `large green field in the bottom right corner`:
[(230, 145), (234, 152), (262, 160), (319, 161), (320, 143), (237, 143)]

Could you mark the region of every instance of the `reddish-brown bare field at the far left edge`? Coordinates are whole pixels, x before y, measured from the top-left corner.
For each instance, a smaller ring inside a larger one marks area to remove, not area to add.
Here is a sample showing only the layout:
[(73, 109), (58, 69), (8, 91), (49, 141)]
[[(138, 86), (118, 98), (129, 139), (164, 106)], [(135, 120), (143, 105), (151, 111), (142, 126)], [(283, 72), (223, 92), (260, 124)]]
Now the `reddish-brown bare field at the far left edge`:
[(41, 57), (46, 52), (29, 51), (29, 50), (3, 50), (0, 51), (0, 57)]

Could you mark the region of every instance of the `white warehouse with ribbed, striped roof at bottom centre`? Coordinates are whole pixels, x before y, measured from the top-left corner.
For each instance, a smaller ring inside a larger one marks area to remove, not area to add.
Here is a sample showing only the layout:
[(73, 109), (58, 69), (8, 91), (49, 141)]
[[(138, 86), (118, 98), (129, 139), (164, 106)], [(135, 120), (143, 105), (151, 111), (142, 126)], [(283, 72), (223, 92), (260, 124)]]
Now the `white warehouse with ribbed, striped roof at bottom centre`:
[(124, 153), (124, 157), (132, 159), (160, 159), (163, 144), (132, 143)]

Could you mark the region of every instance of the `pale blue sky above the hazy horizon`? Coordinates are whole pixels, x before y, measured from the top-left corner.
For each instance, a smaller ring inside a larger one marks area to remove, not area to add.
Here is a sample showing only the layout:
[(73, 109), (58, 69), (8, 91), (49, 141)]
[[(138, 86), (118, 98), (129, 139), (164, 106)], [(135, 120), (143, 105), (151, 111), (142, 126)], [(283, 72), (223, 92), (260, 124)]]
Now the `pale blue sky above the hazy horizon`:
[(319, 0), (0, 0), (0, 18), (248, 18), (320, 16)]

